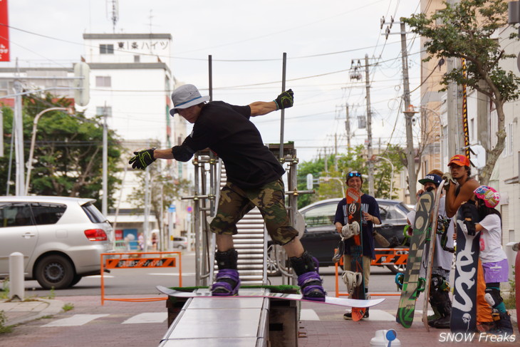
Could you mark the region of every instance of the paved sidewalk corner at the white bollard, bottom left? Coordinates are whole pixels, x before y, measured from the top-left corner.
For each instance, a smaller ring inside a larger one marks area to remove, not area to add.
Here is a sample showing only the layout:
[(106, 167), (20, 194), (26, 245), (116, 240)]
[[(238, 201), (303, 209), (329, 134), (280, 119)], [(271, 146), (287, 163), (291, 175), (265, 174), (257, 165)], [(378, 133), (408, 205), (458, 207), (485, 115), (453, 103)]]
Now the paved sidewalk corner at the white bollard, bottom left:
[(0, 311), (4, 311), (6, 322), (4, 326), (14, 326), (26, 323), (43, 316), (59, 314), (63, 308), (63, 301), (41, 298), (31, 298), (30, 301), (0, 300)]

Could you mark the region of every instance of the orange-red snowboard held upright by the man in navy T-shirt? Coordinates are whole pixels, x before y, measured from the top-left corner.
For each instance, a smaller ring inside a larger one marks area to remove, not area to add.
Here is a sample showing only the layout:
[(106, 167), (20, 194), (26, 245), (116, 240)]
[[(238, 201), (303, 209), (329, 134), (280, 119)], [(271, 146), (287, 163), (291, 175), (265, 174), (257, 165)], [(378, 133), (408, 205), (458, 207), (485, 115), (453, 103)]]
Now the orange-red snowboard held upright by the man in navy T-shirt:
[[(360, 283), (355, 286), (352, 292), (352, 299), (365, 300), (365, 279), (363, 278), (363, 227), (362, 219), (363, 213), (361, 212), (361, 195), (360, 192), (354, 188), (348, 188), (347, 190), (347, 212), (348, 212), (348, 224), (354, 222), (359, 223), (359, 234), (353, 236), (353, 246), (350, 246), (350, 270), (361, 274)], [(355, 307), (352, 306), (352, 320), (360, 321), (365, 316), (366, 308), (363, 306)]]

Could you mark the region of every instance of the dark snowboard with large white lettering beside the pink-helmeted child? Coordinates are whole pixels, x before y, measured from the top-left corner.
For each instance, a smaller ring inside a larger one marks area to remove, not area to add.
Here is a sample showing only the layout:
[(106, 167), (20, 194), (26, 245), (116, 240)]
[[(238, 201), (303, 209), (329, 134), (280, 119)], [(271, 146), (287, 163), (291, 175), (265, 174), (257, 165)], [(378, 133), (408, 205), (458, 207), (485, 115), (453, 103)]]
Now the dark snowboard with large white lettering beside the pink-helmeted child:
[[(479, 222), (474, 204), (471, 208), (472, 222)], [(462, 204), (457, 212), (457, 253), (455, 255), (455, 278), (453, 286), (452, 318), (449, 329), (454, 333), (477, 331), (477, 266), (479, 264), (480, 234), (464, 232)]]

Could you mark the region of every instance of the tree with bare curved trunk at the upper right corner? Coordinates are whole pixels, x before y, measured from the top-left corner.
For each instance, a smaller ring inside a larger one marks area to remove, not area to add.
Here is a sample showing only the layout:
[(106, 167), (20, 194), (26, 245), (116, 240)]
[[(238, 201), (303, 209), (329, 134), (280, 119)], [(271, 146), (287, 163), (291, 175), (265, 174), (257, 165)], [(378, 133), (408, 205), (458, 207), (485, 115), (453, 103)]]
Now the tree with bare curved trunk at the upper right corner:
[[(486, 148), (487, 162), (479, 177), (480, 182), (487, 185), (496, 160), (504, 150), (504, 103), (519, 98), (520, 78), (500, 66), (501, 61), (515, 56), (504, 53), (496, 40), (498, 31), (508, 26), (508, 4), (503, 0), (462, 0), (458, 4), (444, 2), (444, 5), (444, 9), (432, 16), (416, 14), (401, 20), (414, 33), (427, 38), (425, 49), (430, 57), (425, 61), (433, 57), (466, 60), (467, 75), (464, 76), (462, 68), (455, 68), (443, 76), (442, 85), (466, 84), (494, 103), (497, 141), (494, 147)], [(509, 39), (516, 40), (518, 35), (512, 33)]]

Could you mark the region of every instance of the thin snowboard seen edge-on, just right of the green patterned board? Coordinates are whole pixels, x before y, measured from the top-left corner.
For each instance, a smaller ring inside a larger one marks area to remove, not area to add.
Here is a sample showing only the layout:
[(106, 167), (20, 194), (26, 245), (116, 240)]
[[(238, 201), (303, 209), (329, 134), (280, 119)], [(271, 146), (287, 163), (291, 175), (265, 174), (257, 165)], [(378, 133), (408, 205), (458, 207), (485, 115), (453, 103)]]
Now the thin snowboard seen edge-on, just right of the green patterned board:
[(426, 331), (430, 331), (430, 326), (428, 325), (428, 303), (430, 302), (430, 284), (432, 281), (433, 259), (435, 257), (435, 243), (437, 239), (437, 222), (439, 222), (438, 216), (442, 190), (444, 190), (444, 180), (440, 182), (440, 185), (437, 188), (437, 192), (435, 192), (432, 227), (426, 237), (426, 254), (424, 257), (426, 264), (425, 299), (422, 303), (422, 323), (425, 324)]

